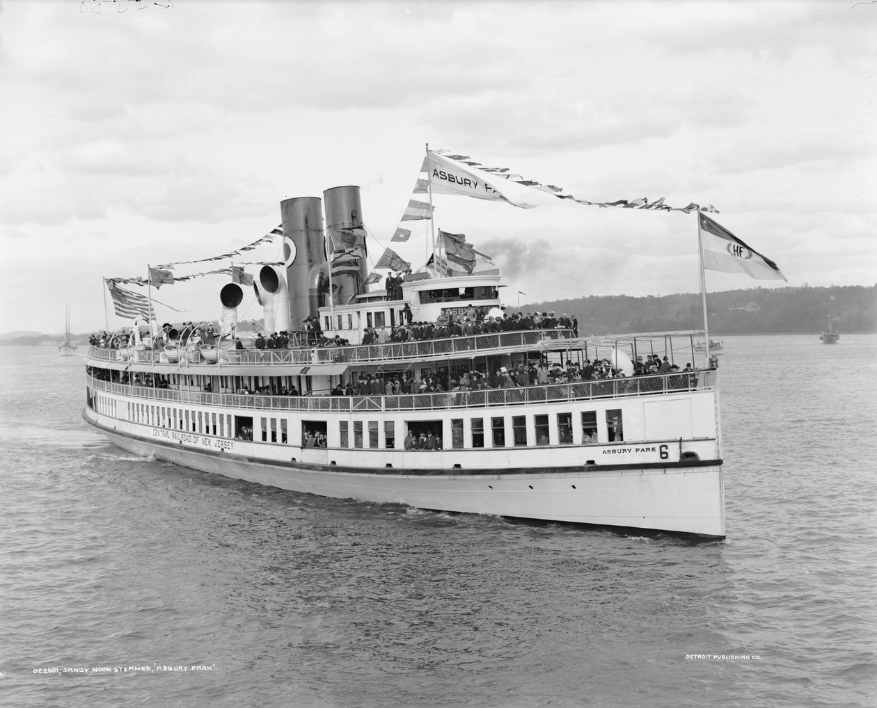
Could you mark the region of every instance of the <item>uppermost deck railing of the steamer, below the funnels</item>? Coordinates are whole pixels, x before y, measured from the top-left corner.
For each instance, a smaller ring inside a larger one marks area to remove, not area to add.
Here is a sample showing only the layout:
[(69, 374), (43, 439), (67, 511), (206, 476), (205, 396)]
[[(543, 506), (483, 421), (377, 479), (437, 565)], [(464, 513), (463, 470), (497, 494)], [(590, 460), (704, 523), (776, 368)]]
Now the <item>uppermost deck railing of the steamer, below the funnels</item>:
[[(436, 357), (472, 356), (479, 352), (537, 347), (572, 339), (572, 329), (517, 329), (474, 336), (453, 336), (446, 339), (424, 339), (414, 342), (387, 342), (346, 347), (325, 346), (307, 349), (229, 350), (222, 355), (221, 365), (275, 366), (318, 364), (373, 364), (388, 360), (429, 359)], [(197, 355), (196, 355), (197, 356)], [(160, 350), (118, 350), (89, 348), (89, 357), (99, 361), (136, 361), (141, 364), (167, 363)], [(181, 361), (180, 366), (215, 366), (203, 362)]]

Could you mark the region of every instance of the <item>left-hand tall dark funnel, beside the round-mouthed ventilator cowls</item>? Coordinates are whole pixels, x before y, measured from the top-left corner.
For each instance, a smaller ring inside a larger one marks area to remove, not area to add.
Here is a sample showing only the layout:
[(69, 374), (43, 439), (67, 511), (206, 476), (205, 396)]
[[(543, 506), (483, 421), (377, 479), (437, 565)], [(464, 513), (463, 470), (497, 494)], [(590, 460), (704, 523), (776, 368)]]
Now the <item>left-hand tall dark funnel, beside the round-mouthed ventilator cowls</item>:
[(303, 320), (319, 315), (318, 297), (310, 297), (312, 273), (326, 261), (322, 202), (296, 196), (280, 202), (283, 254), (289, 288), (289, 329), (303, 330)]

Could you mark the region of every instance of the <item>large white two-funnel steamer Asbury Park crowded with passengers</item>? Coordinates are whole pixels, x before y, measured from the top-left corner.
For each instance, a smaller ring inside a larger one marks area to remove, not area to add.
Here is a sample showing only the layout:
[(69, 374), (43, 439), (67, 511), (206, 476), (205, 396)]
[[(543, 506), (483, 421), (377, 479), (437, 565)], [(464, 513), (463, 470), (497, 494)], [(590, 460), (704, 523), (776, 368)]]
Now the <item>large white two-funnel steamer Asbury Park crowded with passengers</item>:
[(568, 316), (506, 316), (496, 266), (441, 231), (420, 272), (396, 261), (369, 291), (359, 188), (280, 206), (285, 267), (253, 284), (274, 348), (238, 327), (234, 282), (212, 336), (153, 324), (93, 344), (83, 415), (111, 442), (326, 497), (724, 538), (704, 332), (585, 338)]

